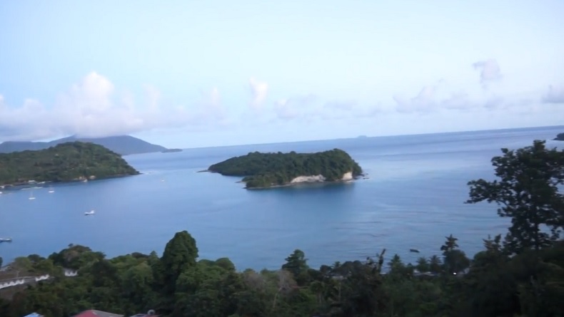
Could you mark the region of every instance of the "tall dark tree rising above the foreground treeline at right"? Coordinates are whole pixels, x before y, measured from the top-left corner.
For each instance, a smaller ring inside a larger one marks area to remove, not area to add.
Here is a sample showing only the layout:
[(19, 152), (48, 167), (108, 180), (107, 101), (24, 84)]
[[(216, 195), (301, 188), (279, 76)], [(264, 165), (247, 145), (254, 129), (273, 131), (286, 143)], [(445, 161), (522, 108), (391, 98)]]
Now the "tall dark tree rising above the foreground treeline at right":
[[(564, 197), (558, 186), (564, 184), (564, 150), (547, 149), (545, 141), (518, 150), (501, 149), (493, 157), (499, 180), (473, 180), (468, 204), (495, 202), (500, 217), (510, 217), (505, 246), (511, 253), (550, 246), (564, 226)], [(551, 234), (543, 232), (543, 225)]]

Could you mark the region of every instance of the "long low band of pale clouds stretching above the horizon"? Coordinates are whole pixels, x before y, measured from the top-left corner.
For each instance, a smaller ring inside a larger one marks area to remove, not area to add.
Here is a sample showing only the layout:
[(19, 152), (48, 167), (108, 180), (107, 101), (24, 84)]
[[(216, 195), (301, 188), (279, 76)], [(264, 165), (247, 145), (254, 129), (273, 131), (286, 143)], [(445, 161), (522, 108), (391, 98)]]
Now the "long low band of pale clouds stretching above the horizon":
[[(198, 100), (177, 105), (166, 101), (152, 85), (143, 86), (143, 95), (116, 90), (111, 81), (92, 72), (59, 94), (54, 103), (26, 99), (19, 107), (7, 105), (0, 95), (0, 141), (41, 140), (66, 135), (104, 137), (147, 130), (183, 129), (214, 130), (239, 125), (264, 128), (276, 123), (298, 125), (315, 120), (353, 123), (354, 120), (381, 119), (384, 115), (427, 115), (439, 112), (475, 110), (510, 110), (515, 113), (541, 111), (548, 104), (564, 104), (564, 86), (550, 85), (536, 95), (510, 95), (500, 90), (503, 78), (495, 59), (472, 64), (479, 71), (479, 80), (464, 87), (450, 87), (448, 80), (423, 83), (411, 95), (343, 95), (323, 98), (316, 92), (275, 95), (269, 101), (269, 85), (254, 77), (248, 80), (250, 100), (243, 99), (238, 115), (223, 105), (217, 87), (201, 90)], [(488, 86), (494, 81), (500, 85)], [(483, 89), (485, 88), (485, 89)], [(513, 90), (515, 91), (515, 90)], [(141, 98), (136, 98), (141, 97)], [(363, 99), (364, 98), (364, 99)], [(248, 105), (244, 105), (248, 103)], [(383, 119), (386, 120), (386, 119)]]

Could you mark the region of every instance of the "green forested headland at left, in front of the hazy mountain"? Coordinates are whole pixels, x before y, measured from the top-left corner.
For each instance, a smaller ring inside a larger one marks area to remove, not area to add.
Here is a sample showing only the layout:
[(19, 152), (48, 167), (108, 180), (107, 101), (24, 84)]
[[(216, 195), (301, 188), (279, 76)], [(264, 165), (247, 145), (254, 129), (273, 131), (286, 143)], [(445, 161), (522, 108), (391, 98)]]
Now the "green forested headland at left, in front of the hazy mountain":
[(67, 142), (46, 150), (0, 153), (0, 185), (136, 174), (120, 155), (94, 143)]

